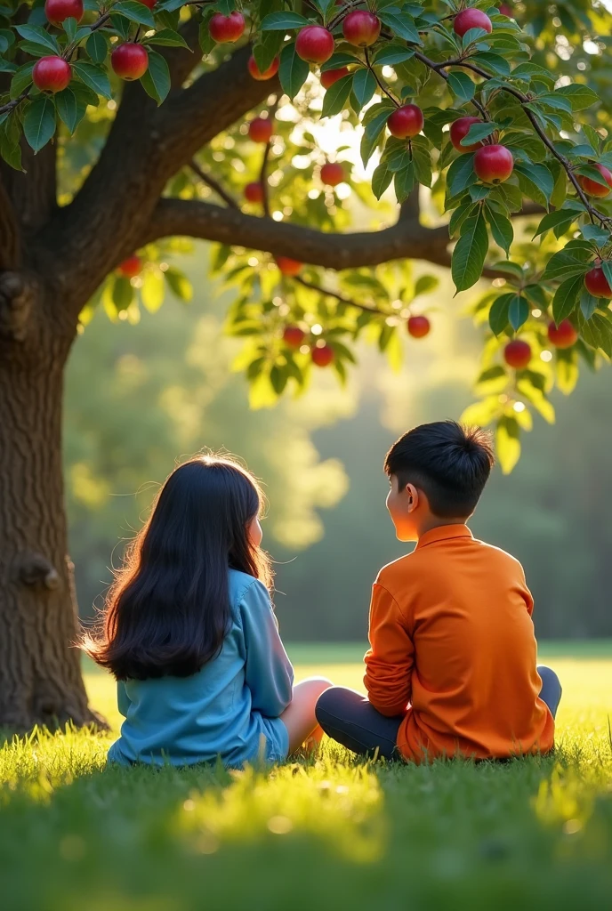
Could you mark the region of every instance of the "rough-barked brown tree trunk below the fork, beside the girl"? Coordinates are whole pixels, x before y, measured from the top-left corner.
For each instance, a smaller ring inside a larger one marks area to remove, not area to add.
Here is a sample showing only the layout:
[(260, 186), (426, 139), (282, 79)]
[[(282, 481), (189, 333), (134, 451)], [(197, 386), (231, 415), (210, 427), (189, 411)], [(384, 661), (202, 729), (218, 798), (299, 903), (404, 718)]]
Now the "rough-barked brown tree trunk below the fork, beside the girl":
[(62, 394), (74, 333), (33, 320), (36, 303), (0, 323), (0, 726), (14, 731), (99, 721), (73, 644), (66, 554)]

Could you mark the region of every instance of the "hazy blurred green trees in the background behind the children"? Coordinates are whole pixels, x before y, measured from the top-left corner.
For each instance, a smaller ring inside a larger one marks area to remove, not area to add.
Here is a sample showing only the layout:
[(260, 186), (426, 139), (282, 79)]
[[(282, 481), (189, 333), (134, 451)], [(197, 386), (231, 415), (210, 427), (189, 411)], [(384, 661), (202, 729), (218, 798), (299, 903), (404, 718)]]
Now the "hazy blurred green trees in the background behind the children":
[[(270, 498), (264, 532), (285, 638), (362, 640), (373, 578), (405, 548), (384, 507), (382, 457), (408, 427), (456, 417), (472, 401), (480, 331), (461, 318), (440, 270), (433, 332), (404, 342), (399, 372), (363, 346), (345, 389), (321, 371), (300, 398), (250, 411), (244, 374), (231, 366), (240, 340), (223, 333), (226, 294), (207, 277), (207, 246), (196, 251), (173, 260), (189, 274), (192, 302), (142, 310), (138, 330), (97, 312), (95, 332), (73, 350), (66, 486), (82, 615), (101, 605), (109, 567), (175, 459), (225, 447)], [(536, 422), (514, 473), (495, 470), (472, 522), (523, 562), (542, 638), (612, 635), (608, 400), (607, 371), (583, 374), (556, 425)]]

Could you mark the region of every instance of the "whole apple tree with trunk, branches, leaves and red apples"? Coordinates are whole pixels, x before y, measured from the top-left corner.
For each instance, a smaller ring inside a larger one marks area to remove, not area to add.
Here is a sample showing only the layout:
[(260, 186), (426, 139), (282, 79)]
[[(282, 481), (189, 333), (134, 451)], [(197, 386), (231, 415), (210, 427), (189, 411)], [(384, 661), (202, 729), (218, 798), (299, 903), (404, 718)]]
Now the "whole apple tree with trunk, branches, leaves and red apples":
[(217, 242), (254, 405), (429, 333), (411, 261), (489, 280), (466, 417), (506, 470), (609, 359), (609, 33), (586, 0), (1, 0), (0, 724), (95, 717), (62, 376), (94, 306), (189, 294), (167, 239)]

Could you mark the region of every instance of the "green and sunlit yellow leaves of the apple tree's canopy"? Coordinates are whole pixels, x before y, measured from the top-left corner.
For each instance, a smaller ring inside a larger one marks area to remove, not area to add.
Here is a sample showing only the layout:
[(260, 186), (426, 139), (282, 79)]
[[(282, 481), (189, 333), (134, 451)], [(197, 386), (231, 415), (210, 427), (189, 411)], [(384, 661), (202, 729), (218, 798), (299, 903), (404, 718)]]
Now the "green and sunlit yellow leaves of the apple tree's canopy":
[[(473, 288), (483, 274), (494, 278), (493, 290), (474, 304), (476, 321), (488, 327), (476, 384), (482, 399), (464, 417), (495, 423), (502, 466), (510, 470), (520, 453), (520, 430), (531, 428), (532, 412), (554, 420), (553, 386), (571, 392), (579, 359), (595, 367), (612, 356), (608, 298), (593, 296), (584, 281), (588, 271), (600, 266), (604, 281), (599, 287), (603, 293), (606, 283), (612, 287), (607, 183), (612, 137), (599, 97), (609, 91), (603, 53), (607, 39), (598, 37), (609, 34), (610, 17), (599, 6), (581, 2), (525, 8), (494, 7), (481, 0), (474, 6), (488, 16), (490, 33), (476, 27), (459, 36), (454, 19), (465, 6), (464, 0), (424, 5), (311, 0), (303, 6), (283, 0), (244, 5), (236, 0), (165, 0), (149, 9), (139, 0), (86, 0), (79, 22), (67, 18), (52, 26), (38, 0), (27, 8), (8, 0), (0, 6), (0, 77), (7, 87), (0, 96), (0, 154), (19, 169), (22, 133), (35, 152), (58, 142), (64, 149), (69, 199), (95, 160), (117, 109), (121, 80), (110, 60), (117, 45), (137, 42), (147, 48), (148, 69), (140, 83), (161, 104), (170, 88), (164, 48), (187, 46), (186, 26), (196, 17), (200, 47), (194, 72), (214, 69), (231, 46), (216, 44), (210, 19), (240, 9), (247, 27), (239, 44), (250, 39), (260, 71), (280, 61), (280, 92), (272, 77), (270, 97), (257, 112), (272, 118), (273, 138), (262, 147), (250, 141), (246, 124), (238, 124), (202, 149), (198, 161), (170, 181), (168, 194), (188, 199), (216, 195), (226, 205), (263, 218), (338, 232), (352, 216), (380, 228), (394, 200), (403, 204), (402, 217), (414, 227), (418, 188), (430, 190), (428, 217), (444, 223), (443, 216), (450, 216), (451, 242), (456, 242), (451, 258), (445, 236), (441, 246), (435, 230), (422, 228), (435, 240), (435, 251), (427, 258), (451, 265), (457, 292)], [(366, 8), (377, 16), (380, 36), (370, 46), (354, 46), (343, 37), (343, 23), (347, 15)], [(334, 40), (333, 54), (320, 70), (301, 59), (296, 46), (301, 29), (312, 24), (325, 26)], [(33, 85), (36, 61), (48, 56), (62, 57), (70, 67), (69, 84), (55, 94)], [(342, 67), (343, 75), (323, 94), (321, 76)], [(423, 130), (412, 138), (393, 137), (389, 118), (407, 104), (423, 110)], [(449, 127), (467, 116), (478, 122), (455, 148)], [(327, 148), (326, 154), (319, 119), (337, 139), (336, 148)], [(75, 133), (76, 142), (70, 139)], [(361, 162), (351, 161), (354, 137)], [(477, 144), (476, 151), (467, 148)], [(482, 171), (479, 177), (474, 169), (481, 148), (494, 145), (507, 149), (513, 162), (511, 175), (500, 182)], [(321, 189), (320, 166), (326, 158), (342, 161), (344, 179), (337, 187)], [(249, 183), (260, 187), (261, 198), (239, 203)], [(362, 205), (349, 208), (351, 190), (373, 212), (365, 216)], [(525, 221), (513, 221), (525, 203), (543, 216), (530, 242)], [(111, 316), (136, 319), (138, 296), (149, 309), (157, 309), (164, 281), (179, 297), (189, 297), (180, 273), (159, 262), (161, 252), (158, 246), (142, 251), (137, 275), (119, 271), (109, 276), (98, 299)], [(432, 292), (437, 280), (424, 275), (413, 281), (405, 259), (409, 251), (395, 259), (397, 255), (392, 251), (391, 262), (375, 268), (364, 263), (330, 274), (304, 264), (290, 275), (267, 255), (219, 248), (214, 269), (238, 288), (229, 324), (231, 333), (246, 339), (240, 366), (252, 384), (252, 404), (271, 404), (285, 389), (303, 388), (316, 369), (312, 358), (314, 352), (316, 363), (317, 349), (329, 353), (326, 363), (342, 381), (347, 364), (354, 361), (354, 343), (362, 336), (377, 342), (392, 362), (399, 361), (406, 319), (424, 312), (421, 295)], [(551, 344), (549, 325), (564, 321), (577, 337), (568, 347), (558, 347)], [(290, 344), (283, 335), (287, 327), (301, 329), (303, 338), (298, 335), (297, 343), (294, 337)], [(515, 336), (529, 345), (531, 354), (518, 368), (504, 357), (505, 345)]]

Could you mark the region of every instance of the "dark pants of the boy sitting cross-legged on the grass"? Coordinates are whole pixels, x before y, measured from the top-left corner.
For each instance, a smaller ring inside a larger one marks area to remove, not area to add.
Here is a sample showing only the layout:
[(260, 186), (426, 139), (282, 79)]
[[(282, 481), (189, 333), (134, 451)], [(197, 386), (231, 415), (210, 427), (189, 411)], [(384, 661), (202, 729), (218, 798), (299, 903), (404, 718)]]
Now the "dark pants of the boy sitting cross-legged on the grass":
[[(555, 717), (561, 700), (559, 678), (544, 665), (537, 672), (542, 679), (540, 698)], [(378, 755), (385, 759), (401, 758), (396, 741), (403, 715), (385, 717), (362, 693), (342, 686), (331, 687), (319, 697), (315, 713), (323, 731), (352, 752), (373, 755), (378, 750)]]

